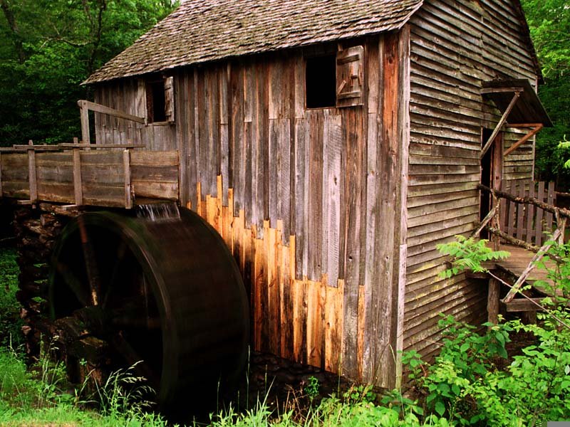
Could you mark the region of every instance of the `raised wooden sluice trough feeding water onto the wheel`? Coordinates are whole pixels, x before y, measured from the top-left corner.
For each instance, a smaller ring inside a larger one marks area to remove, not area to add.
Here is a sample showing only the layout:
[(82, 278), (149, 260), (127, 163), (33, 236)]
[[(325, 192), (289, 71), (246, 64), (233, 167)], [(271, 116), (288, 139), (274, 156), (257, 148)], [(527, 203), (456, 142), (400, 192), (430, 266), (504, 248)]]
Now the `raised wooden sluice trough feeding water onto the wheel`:
[(179, 199), (177, 151), (134, 144), (14, 145), (0, 149), (0, 197), (132, 208)]

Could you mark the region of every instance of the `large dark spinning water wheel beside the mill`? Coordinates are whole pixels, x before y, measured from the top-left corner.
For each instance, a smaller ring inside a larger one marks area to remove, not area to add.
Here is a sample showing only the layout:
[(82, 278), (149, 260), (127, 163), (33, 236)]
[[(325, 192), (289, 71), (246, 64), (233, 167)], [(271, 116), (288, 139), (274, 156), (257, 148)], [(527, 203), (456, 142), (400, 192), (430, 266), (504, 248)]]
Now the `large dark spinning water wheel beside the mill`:
[(138, 362), (166, 412), (188, 408), (194, 391), (215, 402), (243, 371), (249, 343), (234, 258), (197, 214), (176, 213), (78, 216), (54, 249), (48, 296), (68, 356)]

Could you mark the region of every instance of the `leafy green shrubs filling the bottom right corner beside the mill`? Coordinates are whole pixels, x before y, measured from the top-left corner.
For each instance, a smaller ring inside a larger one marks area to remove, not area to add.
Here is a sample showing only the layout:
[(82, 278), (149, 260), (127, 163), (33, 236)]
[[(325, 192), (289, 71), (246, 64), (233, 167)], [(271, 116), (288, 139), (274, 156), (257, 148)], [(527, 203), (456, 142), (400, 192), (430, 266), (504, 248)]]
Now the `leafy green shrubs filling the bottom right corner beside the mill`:
[[(462, 247), (465, 241), (460, 239), (460, 249), (452, 243), (443, 246), (444, 253), (455, 256), (454, 263), (467, 258), (467, 263), (460, 262), (462, 268), (478, 268), (489, 252), (479, 245), (476, 251), (467, 251)], [(486, 324), (487, 331), (481, 334), (448, 316), (440, 320), (442, 349), (431, 365), (416, 352), (404, 354), (410, 379), (426, 395), (428, 413), (462, 426), (536, 426), (570, 418), (570, 329), (563, 326), (570, 322), (570, 246), (551, 243), (538, 267), (547, 268), (563, 295), (552, 300), (551, 310), (539, 313), (539, 324), (523, 325), (519, 320)], [(548, 268), (546, 260), (553, 260), (555, 267)], [(508, 357), (512, 332), (532, 334), (536, 342), (499, 369), (497, 362)]]

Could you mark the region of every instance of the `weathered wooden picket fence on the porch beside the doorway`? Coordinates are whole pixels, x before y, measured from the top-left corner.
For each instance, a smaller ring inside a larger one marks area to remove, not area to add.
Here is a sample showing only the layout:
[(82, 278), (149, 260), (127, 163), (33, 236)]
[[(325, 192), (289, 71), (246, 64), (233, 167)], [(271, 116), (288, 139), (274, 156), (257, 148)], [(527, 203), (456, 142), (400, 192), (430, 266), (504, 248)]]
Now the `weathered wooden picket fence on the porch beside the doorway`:
[[(504, 181), (502, 191), (519, 198), (532, 197), (551, 206), (556, 202), (554, 182)], [(551, 212), (507, 199), (501, 199), (500, 203), (500, 229), (504, 233), (536, 246), (548, 240), (545, 233), (552, 233), (553, 221), (556, 221)]]

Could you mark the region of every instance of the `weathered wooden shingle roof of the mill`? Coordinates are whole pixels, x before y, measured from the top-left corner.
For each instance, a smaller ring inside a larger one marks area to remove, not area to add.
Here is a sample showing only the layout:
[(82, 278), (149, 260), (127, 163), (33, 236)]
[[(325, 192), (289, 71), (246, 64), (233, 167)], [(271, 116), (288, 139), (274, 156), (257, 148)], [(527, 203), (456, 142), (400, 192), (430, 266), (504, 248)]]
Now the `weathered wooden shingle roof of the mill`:
[(423, 0), (187, 0), (85, 83), (400, 28)]

